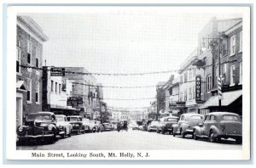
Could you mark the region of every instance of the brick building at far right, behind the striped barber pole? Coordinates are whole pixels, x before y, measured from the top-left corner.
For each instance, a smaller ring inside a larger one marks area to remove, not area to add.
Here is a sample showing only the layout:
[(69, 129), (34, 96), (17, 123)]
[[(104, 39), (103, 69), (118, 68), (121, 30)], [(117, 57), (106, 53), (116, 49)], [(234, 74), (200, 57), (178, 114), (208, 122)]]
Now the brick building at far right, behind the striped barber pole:
[[(212, 97), (203, 108), (209, 109), (210, 112), (223, 110), (242, 115), (242, 21), (223, 31), (212, 50), (215, 51), (212, 56), (212, 74), (215, 80), (212, 81), (210, 91)], [(223, 92), (221, 106), (218, 104), (218, 63)]]

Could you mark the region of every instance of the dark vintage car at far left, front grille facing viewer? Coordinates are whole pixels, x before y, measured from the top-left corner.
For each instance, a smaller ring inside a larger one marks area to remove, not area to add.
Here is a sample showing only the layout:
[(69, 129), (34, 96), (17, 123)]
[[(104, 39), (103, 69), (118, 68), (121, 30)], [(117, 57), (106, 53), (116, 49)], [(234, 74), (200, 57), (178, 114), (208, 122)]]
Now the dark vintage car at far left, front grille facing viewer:
[(55, 143), (59, 130), (52, 112), (36, 112), (26, 115), (25, 125), (17, 127), (17, 137), (20, 143), (45, 141)]

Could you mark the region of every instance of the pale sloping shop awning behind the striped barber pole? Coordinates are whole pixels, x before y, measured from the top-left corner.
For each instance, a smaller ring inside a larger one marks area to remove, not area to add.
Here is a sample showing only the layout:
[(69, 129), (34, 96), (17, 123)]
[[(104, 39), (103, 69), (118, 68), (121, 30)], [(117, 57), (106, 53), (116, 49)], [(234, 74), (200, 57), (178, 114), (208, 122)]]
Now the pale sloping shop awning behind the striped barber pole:
[[(237, 98), (241, 97), (242, 90), (223, 92), (223, 99), (221, 100), (222, 106), (227, 106), (236, 101)], [(203, 104), (199, 109), (206, 109), (208, 107), (218, 106), (218, 96), (213, 96), (209, 98), (205, 104)]]

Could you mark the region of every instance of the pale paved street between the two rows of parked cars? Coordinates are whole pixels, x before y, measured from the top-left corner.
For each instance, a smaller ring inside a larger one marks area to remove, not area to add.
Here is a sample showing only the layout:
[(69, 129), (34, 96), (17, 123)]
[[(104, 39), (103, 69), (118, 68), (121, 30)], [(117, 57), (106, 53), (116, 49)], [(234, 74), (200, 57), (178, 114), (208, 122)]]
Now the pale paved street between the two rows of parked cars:
[(241, 145), (224, 141), (224, 143), (210, 143), (208, 140), (195, 141), (191, 137), (183, 139), (172, 135), (162, 135), (155, 132), (97, 132), (73, 135), (60, 139), (54, 144), (24, 145), (17, 149), (27, 150), (224, 150), (241, 149)]

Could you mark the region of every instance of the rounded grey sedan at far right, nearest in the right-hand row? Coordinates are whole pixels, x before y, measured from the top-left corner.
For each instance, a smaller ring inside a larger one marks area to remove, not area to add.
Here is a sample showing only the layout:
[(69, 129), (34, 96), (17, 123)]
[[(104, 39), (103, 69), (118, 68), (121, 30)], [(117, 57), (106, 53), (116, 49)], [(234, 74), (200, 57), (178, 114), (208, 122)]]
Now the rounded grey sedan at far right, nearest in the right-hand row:
[(239, 115), (230, 112), (213, 112), (205, 117), (203, 124), (194, 127), (194, 139), (207, 137), (210, 141), (221, 142), (221, 138), (242, 140), (242, 123)]

